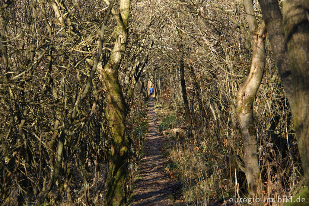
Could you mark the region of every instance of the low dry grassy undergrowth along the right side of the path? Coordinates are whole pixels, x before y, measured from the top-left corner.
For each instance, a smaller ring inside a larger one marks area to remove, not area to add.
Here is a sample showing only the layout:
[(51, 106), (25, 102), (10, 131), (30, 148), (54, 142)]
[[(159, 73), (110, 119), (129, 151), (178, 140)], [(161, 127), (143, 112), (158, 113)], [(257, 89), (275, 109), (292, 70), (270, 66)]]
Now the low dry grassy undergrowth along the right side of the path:
[[(155, 108), (160, 131), (163, 130), (163, 134), (169, 140), (165, 146), (165, 155), (169, 158), (166, 170), (177, 182), (177, 191), (174, 193), (176, 199), (181, 199), (189, 205), (231, 205), (234, 203), (229, 202), (230, 198), (248, 198), (243, 172), (243, 146), (240, 144), (241, 135), (237, 127), (214, 127), (216, 125), (212, 125), (207, 118), (195, 119), (192, 137), (189, 138), (181, 107), (157, 104)], [(207, 121), (208, 124), (205, 123)], [(298, 156), (292, 158), (282, 151), (280, 153), (277, 142), (273, 143), (274, 140), (271, 139), (272, 135), (259, 135), (263, 136), (259, 158), (265, 200), (276, 195), (282, 197), (293, 194), (290, 188), (296, 190), (296, 185), (302, 184), (301, 173), (297, 172)], [(290, 152), (296, 153), (297, 148), (294, 145), (290, 145), (289, 149)], [(278, 155), (281, 155), (281, 159)], [(278, 158), (281, 163), (274, 158)], [(290, 161), (292, 164), (288, 164)], [(293, 170), (296, 173), (292, 173)], [(279, 174), (275, 174), (276, 172)], [(289, 186), (289, 182), (294, 186)], [(267, 201), (265, 204), (283, 205), (270, 204)]]

